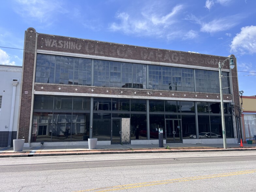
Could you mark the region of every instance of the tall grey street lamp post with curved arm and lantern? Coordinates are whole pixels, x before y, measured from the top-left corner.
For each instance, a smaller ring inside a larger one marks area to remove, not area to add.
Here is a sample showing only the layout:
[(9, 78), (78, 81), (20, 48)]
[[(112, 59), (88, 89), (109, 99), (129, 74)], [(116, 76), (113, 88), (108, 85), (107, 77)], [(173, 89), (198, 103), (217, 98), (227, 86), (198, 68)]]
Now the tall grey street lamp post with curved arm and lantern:
[(230, 55), (228, 56), (227, 59), (225, 59), (222, 63), (219, 62), (219, 87), (220, 87), (220, 106), (221, 106), (221, 126), (222, 126), (222, 137), (223, 137), (223, 148), (227, 149), (227, 141), (226, 141), (226, 128), (225, 128), (225, 118), (224, 118), (224, 104), (223, 104), (223, 93), (222, 93), (222, 80), (221, 80), (221, 72), (222, 72), (222, 68), (224, 65), (224, 62), (226, 60), (229, 60), (229, 67), (230, 69), (234, 69), (235, 65), (234, 65), (234, 55)]

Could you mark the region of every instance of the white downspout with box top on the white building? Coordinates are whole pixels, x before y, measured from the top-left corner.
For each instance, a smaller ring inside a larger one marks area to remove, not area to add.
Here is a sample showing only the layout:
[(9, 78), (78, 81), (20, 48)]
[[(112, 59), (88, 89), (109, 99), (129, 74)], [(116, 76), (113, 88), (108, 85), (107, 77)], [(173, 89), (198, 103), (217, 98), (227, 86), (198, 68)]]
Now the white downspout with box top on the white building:
[(11, 116), (10, 116), (10, 126), (9, 126), (9, 137), (8, 137), (8, 147), (11, 147), (11, 137), (12, 137), (12, 127), (13, 127), (13, 119), (14, 119), (14, 108), (15, 108), (15, 100), (16, 100), (16, 87), (19, 85), (18, 79), (12, 79), (11, 84), (12, 88), (12, 100), (11, 100)]

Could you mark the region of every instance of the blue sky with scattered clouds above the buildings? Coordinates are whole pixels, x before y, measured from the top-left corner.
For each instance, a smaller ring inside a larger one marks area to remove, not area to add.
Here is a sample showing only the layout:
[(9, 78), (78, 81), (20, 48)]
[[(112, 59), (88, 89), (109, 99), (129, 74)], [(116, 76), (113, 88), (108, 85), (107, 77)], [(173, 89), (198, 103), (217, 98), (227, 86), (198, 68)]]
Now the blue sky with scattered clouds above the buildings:
[[(1, 2), (0, 64), (22, 65), (24, 31), (237, 57), (239, 90), (256, 95), (255, 0)], [(17, 48), (9, 49), (3, 47)]]

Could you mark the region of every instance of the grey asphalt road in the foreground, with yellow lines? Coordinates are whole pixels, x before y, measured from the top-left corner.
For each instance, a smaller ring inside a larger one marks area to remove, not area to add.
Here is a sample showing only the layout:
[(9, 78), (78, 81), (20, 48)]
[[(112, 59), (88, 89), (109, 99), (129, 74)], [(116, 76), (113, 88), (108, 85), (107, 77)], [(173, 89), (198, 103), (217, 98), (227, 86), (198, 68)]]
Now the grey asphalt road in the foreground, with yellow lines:
[(0, 159), (0, 191), (255, 191), (256, 151)]

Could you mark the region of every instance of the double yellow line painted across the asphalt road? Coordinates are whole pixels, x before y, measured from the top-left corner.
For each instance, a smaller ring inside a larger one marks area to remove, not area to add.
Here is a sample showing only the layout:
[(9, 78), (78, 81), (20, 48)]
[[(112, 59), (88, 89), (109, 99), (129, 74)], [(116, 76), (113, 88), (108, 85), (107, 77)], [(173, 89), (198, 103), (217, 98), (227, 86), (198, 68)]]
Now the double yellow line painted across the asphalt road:
[(111, 187), (86, 189), (86, 190), (80, 190), (80, 191), (75, 191), (75, 192), (117, 191), (117, 190), (131, 189), (131, 188), (138, 188), (138, 187), (146, 187), (146, 186), (153, 186), (153, 185), (170, 184), (170, 183), (185, 182), (185, 181), (195, 181), (195, 180), (201, 180), (201, 179), (211, 179), (211, 178), (216, 178), (216, 177), (228, 177), (228, 176), (249, 174), (249, 173), (255, 173), (255, 172), (256, 172), (256, 169), (252, 169), (252, 170), (236, 171), (236, 172), (230, 172), (230, 173), (220, 173), (220, 174), (213, 174), (213, 175), (201, 175), (201, 176), (178, 178), (178, 179), (168, 179), (168, 180), (161, 180), (161, 181), (151, 181), (151, 182), (143, 182), (143, 183), (135, 183), (135, 184), (116, 185), (116, 186), (111, 186)]

